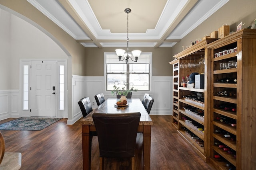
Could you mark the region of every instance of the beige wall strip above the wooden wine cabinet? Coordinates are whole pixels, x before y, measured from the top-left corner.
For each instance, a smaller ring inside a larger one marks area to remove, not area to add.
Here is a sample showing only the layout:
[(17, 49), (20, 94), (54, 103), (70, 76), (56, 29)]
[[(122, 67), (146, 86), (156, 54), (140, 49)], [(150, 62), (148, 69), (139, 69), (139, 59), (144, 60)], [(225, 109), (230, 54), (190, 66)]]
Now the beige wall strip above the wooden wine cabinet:
[(202, 38), (205, 34), (218, 31), (223, 24), (230, 25), (230, 31), (236, 31), (237, 25), (243, 21), (247, 28), (256, 18), (256, 0), (230, 0), (196, 29), (190, 32), (179, 43), (172, 47), (172, 55), (180, 53), (182, 46), (190, 45), (191, 41)]

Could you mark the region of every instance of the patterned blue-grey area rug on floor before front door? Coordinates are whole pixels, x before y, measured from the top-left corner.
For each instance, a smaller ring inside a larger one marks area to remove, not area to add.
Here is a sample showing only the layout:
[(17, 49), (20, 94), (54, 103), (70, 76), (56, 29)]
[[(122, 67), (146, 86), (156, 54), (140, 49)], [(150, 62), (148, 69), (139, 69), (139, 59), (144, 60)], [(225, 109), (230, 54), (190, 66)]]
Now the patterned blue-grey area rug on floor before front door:
[(6, 123), (0, 124), (0, 130), (25, 130), (40, 131), (62, 118), (36, 118), (24, 117), (18, 118)]

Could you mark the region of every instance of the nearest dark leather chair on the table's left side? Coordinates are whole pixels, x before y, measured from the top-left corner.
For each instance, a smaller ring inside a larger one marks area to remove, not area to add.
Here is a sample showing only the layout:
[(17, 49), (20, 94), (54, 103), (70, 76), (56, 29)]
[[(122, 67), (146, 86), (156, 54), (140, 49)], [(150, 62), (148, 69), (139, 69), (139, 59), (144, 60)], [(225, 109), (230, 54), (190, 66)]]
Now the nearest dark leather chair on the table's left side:
[[(90, 102), (89, 97), (82, 98), (78, 100), (78, 105), (82, 111), (83, 117), (86, 117), (90, 112), (92, 112), (92, 104)], [(90, 142), (89, 142), (89, 155), (91, 159), (91, 153), (92, 153), (92, 137), (97, 136), (97, 132), (90, 131)]]

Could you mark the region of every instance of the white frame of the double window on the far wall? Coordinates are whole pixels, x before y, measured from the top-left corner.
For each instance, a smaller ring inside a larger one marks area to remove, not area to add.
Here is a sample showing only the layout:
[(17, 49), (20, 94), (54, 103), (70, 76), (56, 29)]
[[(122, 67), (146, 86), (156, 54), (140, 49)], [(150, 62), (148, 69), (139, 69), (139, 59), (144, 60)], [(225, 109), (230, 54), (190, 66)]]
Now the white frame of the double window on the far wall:
[[(111, 92), (111, 90), (107, 90), (107, 70), (106, 70), (106, 58), (108, 55), (116, 55), (116, 53), (110, 53), (110, 52), (105, 52), (104, 53), (104, 89), (105, 89), (105, 92)], [(141, 55), (149, 55), (150, 56), (150, 62), (148, 63), (149, 64), (149, 73), (148, 73), (148, 76), (149, 76), (149, 81), (148, 81), (148, 90), (138, 90), (138, 92), (147, 92), (147, 93), (150, 93), (151, 92), (151, 88), (152, 88), (152, 53), (151, 52), (144, 52), (144, 53), (141, 53)], [(138, 57), (138, 61), (140, 60), (140, 57)], [(118, 56), (116, 56), (116, 63), (118, 64), (120, 61), (118, 60)], [(125, 63), (125, 61), (122, 61), (122, 63)], [(136, 62), (133, 62), (131, 61), (130, 63), (128, 62), (128, 64), (136, 64)], [(127, 66), (127, 72), (129, 72), (129, 65)], [(129, 75), (130, 74), (143, 74), (143, 73), (124, 73), (126, 74), (126, 77), (128, 76), (128, 80), (129, 80)], [(130, 85), (128, 84), (128, 87)]]

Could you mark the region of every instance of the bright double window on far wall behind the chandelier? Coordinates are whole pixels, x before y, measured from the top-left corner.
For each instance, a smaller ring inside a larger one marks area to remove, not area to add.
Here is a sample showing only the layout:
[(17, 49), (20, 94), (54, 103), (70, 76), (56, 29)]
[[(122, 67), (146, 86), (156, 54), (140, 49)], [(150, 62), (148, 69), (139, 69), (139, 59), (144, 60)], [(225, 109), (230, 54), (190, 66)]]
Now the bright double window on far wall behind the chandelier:
[(116, 85), (120, 88), (126, 84), (127, 88), (150, 90), (150, 70), (152, 53), (141, 53), (137, 62), (119, 61), (115, 53), (105, 53), (106, 90), (112, 90)]

